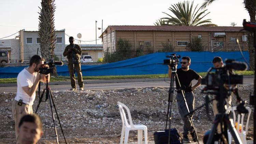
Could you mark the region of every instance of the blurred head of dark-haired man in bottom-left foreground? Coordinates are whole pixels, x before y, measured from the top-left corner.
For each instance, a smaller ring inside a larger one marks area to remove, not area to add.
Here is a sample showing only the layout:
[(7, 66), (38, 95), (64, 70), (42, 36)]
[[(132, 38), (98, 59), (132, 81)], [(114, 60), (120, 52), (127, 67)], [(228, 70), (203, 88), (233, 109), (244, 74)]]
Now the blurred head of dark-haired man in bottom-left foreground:
[(36, 114), (23, 116), (19, 122), (18, 134), (19, 143), (37, 143), (43, 135), (43, 125), (40, 117)]

